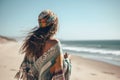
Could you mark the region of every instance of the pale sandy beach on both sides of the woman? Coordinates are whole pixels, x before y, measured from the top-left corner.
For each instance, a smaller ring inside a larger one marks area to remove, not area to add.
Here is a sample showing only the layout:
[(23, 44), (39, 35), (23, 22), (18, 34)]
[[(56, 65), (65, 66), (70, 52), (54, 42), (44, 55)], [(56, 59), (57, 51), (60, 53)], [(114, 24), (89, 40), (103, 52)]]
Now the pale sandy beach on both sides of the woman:
[[(23, 56), (21, 43), (0, 43), (0, 80), (15, 80)], [(71, 80), (120, 80), (120, 66), (71, 55)]]

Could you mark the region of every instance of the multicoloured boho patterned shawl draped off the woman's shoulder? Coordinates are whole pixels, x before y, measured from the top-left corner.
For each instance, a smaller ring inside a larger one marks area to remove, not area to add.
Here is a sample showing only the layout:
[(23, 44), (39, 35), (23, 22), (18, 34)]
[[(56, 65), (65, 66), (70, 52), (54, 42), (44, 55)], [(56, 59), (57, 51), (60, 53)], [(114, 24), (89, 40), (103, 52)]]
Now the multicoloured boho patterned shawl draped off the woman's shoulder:
[(71, 63), (64, 59), (60, 43), (55, 44), (37, 60), (24, 58), (15, 78), (18, 80), (70, 80)]

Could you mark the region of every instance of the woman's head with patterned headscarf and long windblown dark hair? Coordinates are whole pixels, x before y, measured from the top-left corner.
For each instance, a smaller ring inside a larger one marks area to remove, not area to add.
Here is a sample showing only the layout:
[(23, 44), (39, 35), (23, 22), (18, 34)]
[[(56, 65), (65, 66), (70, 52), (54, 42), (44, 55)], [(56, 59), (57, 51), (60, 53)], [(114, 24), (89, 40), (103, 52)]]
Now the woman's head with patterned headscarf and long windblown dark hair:
[(29, 33), (21, 48), (27, 55), (42, 54), (45, 42), (52, 37), (58, 28), (58, 17), (51, 10), (44, 10), (38, 16), (39, 27)]

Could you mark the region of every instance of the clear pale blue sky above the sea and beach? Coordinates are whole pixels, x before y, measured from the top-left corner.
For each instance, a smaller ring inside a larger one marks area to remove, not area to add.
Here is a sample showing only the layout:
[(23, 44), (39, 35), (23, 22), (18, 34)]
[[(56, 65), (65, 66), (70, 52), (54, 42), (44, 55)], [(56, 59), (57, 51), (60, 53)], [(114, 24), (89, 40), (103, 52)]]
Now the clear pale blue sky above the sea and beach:
[(0, 35), (19, 37), (50, 9), (62, 40), (120, 40), (120, 0), (0, 0)]

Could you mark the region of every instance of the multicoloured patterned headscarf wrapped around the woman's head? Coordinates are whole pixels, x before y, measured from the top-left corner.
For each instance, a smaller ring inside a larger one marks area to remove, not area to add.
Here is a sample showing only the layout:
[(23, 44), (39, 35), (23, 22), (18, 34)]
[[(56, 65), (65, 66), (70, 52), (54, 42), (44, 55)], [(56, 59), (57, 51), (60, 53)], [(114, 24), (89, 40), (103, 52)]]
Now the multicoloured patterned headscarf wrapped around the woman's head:
[(58, 18), (51, 10), (44, 10), (38, 16), (38, 23), (40, 28), (51, 27), (52, 32), (57, 31)]

